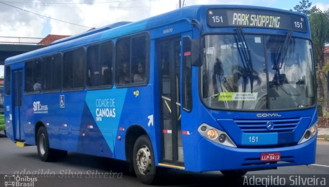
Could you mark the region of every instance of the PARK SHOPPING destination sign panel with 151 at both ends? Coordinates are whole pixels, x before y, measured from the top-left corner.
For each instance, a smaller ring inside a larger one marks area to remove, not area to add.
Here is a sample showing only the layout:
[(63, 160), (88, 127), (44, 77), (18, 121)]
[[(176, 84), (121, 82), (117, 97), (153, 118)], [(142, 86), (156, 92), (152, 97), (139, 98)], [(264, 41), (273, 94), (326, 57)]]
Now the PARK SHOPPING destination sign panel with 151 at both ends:
[(303, 16), (245, 9), (209, 9), (209, 27), (253, 27), (307, 32)]

